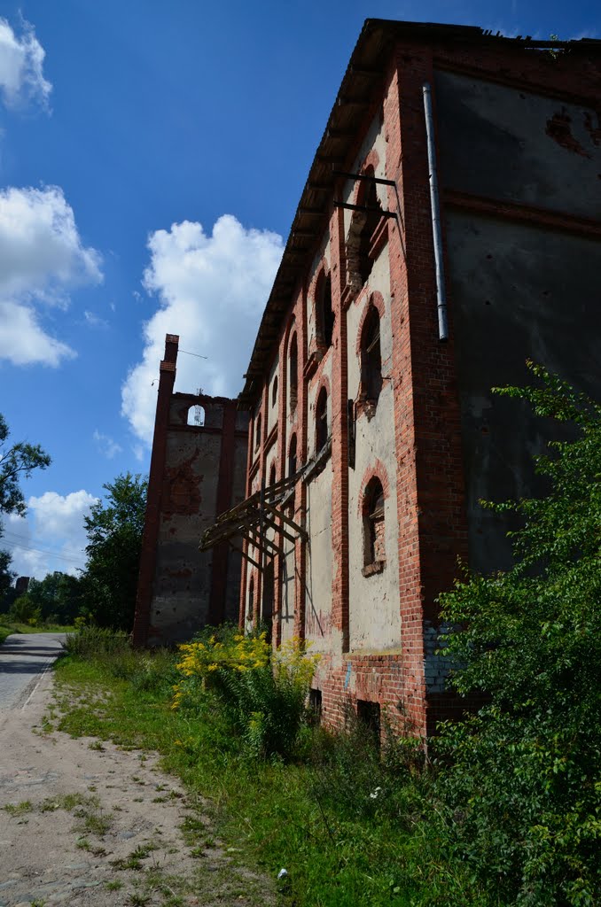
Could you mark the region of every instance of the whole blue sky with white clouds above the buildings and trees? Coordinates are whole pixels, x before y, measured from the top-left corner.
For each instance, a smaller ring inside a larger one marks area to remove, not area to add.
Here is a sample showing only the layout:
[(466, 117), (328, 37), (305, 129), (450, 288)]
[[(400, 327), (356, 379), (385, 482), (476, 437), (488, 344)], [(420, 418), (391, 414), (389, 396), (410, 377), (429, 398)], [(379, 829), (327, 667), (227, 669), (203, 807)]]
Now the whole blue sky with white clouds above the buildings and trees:
[(5, 518), (19, 573), (75, 571), (103, 483), (146, 473), (177, 388), (236, 395), (367, 17), (601, 36), (598, 0), (0, 0), (0, 412), (52, 466)]

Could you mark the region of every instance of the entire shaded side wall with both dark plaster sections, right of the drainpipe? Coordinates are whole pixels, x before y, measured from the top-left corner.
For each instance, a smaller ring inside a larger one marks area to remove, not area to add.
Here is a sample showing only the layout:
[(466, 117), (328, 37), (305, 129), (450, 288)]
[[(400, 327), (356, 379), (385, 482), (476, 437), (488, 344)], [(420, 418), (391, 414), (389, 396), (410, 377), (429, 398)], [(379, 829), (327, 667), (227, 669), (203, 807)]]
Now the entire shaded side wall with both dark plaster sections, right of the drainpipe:
[(601, 225), (582, 219), (601, 218), (601, 133), (586, 106), (451, 73), (436, 86), (469, 561), (486, 572), (510, 563), (511, 524), (479, 501), (542, 492), (532, 456), (557, 432), (490, 388), (529, 382), (529, 358), (598, 395)]

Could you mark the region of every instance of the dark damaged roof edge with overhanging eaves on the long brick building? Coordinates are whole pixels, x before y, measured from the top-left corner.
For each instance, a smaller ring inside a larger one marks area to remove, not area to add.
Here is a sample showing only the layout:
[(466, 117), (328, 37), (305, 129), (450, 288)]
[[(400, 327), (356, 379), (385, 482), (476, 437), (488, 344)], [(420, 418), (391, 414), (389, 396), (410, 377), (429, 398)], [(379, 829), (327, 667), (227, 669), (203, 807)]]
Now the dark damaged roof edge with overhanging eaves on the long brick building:
[[(263, 375), (271, 360), (272, 352), (280, 337), (279, 322), (275, 318), (283, 316), (291, 305), (292, 295), (297, 286), (300, 273), (307, 267), (308, 259), (314, 251), (314, 239), (322, 232), (322, 221), (330, 212), (330, 198), (321, 207), (315, 207), (314, 193), (328, 193), (333, 189), (335, 177), (331, 166), (334, 160), (340, 165), (346, 160), (354, 134), (336, 133), (340, 109), (347, 104), (365, 104), (372, 101), (373, 89), (385, 71), (389, 52), (399, 39), (413, 39), (421, 42), (435, 40), (450, 42), (460, 41), (463, 44), (506, 44), (507, 47), (557, 48), (601, 53), (601, 41), (594, 38), (580, 38), (572, 41), (537, 41), (530, 36), (523, 38), (506, 37), (491, 34), (478, 25), (453, 25), (424, 22), (398, 22), (391, 19), (366, 19), (361, 29), (357, 44), (350, 54), (350, 61), (340, 83), (334, 105), (330, 111), (326, 129), (321, 136), (315, 157), (310, 166), (309, 176), (300, 196), (299, 205), (292, 219), (291, 231), (286, 241), (280, 267), (273, 281), (270, 296), (261, 317), (246, 374), (245, 384), (238, 396), (241, 409), (251, 408), (260, 382), (255, 379)], [(332, 154), (329, 143), (336, 142), (339, 151)], [(340, 145), (342, 147), (340, 148)], [(309, 219), (309, 224), (307, 220)], [(308, 246), (298, 245), (299, 239), (310, 239)]]

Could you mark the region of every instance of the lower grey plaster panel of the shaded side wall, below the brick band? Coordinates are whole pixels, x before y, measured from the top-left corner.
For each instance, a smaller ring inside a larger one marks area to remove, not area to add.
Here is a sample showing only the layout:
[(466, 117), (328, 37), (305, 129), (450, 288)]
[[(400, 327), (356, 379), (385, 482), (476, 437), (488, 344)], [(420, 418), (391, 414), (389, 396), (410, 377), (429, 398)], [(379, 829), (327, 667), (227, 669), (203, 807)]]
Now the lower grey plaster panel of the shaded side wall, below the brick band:
[(498, 570), (510, 562), (507, 525), (478, 501), (540, 489), (532, 456), (554, 426), (490, 388), (526, 384), (532, 358), (598, 395), (601, 243), (458, 212), (448, 213), (447, 241), (469, 558), (478, 570)]

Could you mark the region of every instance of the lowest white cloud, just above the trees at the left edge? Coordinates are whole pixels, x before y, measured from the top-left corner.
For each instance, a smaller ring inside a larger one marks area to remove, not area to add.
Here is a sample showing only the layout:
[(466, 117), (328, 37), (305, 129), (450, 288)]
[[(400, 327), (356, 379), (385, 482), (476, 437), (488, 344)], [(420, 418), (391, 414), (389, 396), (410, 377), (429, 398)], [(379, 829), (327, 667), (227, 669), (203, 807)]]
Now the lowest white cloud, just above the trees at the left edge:
[(13, 513), (4, 521), (0, 547), (11, 551), (11, 570), (43, 580), (53, 571), (76, 573), (84, 567), (84, 516), (97, 500), (83, 489), (30, 497), (25, 517)]

